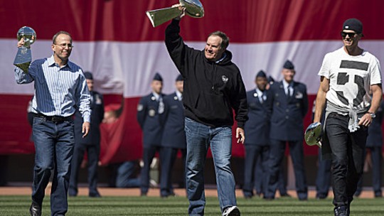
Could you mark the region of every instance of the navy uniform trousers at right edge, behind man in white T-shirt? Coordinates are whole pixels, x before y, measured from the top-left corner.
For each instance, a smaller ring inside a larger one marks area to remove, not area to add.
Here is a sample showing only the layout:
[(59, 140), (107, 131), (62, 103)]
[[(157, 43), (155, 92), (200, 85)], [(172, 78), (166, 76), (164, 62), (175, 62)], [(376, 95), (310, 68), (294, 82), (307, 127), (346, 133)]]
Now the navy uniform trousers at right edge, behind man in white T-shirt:
[[(381, 196), (381, 167), (383, 161), (383, 155), (381, 154), (381, 146), (367, 147), (370, 150), (370, 159), (372, 161), (372, 186), (375, 196)], [(364, 161), (366, 159), (364, 158)], [(363, 189), (363, 176), (358, 181), (358, 188), (356, 193), (360, 194)]]

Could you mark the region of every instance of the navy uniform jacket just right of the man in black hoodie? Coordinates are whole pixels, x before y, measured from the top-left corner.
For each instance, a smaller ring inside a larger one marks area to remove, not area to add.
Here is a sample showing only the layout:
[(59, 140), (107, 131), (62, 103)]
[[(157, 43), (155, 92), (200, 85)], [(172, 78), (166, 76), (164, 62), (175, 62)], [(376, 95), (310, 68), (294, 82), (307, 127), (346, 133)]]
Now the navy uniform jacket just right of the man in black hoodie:
[(261, 103), (260, 97), (256, 90), (247, 92), (249, 119), (244, 126), (245, 144), (266, 146), (270, 143), (270, 113), (267, 101)]

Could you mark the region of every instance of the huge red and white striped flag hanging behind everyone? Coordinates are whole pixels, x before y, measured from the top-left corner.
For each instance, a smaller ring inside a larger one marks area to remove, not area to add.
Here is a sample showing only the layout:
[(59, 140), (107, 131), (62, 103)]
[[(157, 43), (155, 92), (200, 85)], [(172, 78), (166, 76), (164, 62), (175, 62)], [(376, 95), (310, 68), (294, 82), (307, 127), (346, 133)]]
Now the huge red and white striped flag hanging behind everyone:
[[(16, 85), (12, 65), (17, 52), (16, 32), (21, 26), (30, 26), (37, 33), (32, 45), (33, 59), (50, 55), (51, 38), (57, 31), (72, 34), (75, 48), (70, 60), (93, 72), (95, 89), (105, 95), (107, 105), (124, 104), (119, 120), (102, 126), (102, 164), (140, 158), (142, 133), (136, 121), (139, 97), (150, 92), (155, 72), (163, 75), (166, 94), (173, 92), (178, 74), (164, 45), (166, 24), (153, 28), (144, 11), (176, 2), (0, 1), (0, 163), (8, 164), (11, 170), (33, 166), (31, 128), (26, 121), (33, 85)], [(203, 49), (208, 33), (227, 33), (228, 50), (233, 52), (233, 62), (239, 66), (247, 90), (254, 87), (258, 70), (281, 80), (282, 64), (289, 59), (297, 70), (295, 80), (307, 86), (311, 108), (319, 87), (316, 74), (321, 61), (326, 53), (341, 47), (340, 31), (346, 18), (363, 22), (365, 37), (361, 46), (379, 60), (384, 58), (384, 18), (380, 16), (384, 2), (379, 0), (201, 2), (206, 16), (183, 18), (181, 35), (188, 45)], [(310, 110), (304, 126), (310, 124)], [(241, 161), (243, 151), (241, 145), (234, 145), (234, 160)], [(316, 153), (316, 147), (305, 146), (306, 170), (311, 179)], [(16, 171), (8, 173), (13, 175)]]

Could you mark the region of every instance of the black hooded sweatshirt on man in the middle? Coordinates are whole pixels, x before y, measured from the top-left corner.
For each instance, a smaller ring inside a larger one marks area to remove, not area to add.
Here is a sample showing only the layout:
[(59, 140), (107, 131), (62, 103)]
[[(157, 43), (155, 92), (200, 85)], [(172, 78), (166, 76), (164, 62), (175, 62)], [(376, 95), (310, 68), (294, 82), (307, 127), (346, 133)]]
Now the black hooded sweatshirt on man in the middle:
[(247, 121), (247, 95), (232, 53), (215, 63), (204, 50), (189, 48), (179, 35), (179, 21), (166, 28), (166, 48), (184, 79), (183, 104), (186, 117), (207, 126), (232, 126), (233, 110), (238, 127)]

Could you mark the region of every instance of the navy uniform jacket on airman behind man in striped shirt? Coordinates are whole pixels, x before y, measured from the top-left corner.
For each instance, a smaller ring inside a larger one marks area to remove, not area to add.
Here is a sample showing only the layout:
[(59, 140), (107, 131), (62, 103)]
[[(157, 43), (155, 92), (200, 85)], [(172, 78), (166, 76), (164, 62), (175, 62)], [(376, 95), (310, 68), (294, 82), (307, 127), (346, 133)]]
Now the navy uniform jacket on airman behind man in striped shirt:
[(75, 143), (100, 146), (100, 123), (104, 119), (104, 100), (99, 92), (90, 92), (91, 122), (90, 132), (82, 138), (82, 117), (79, 111), (75, 112)]

